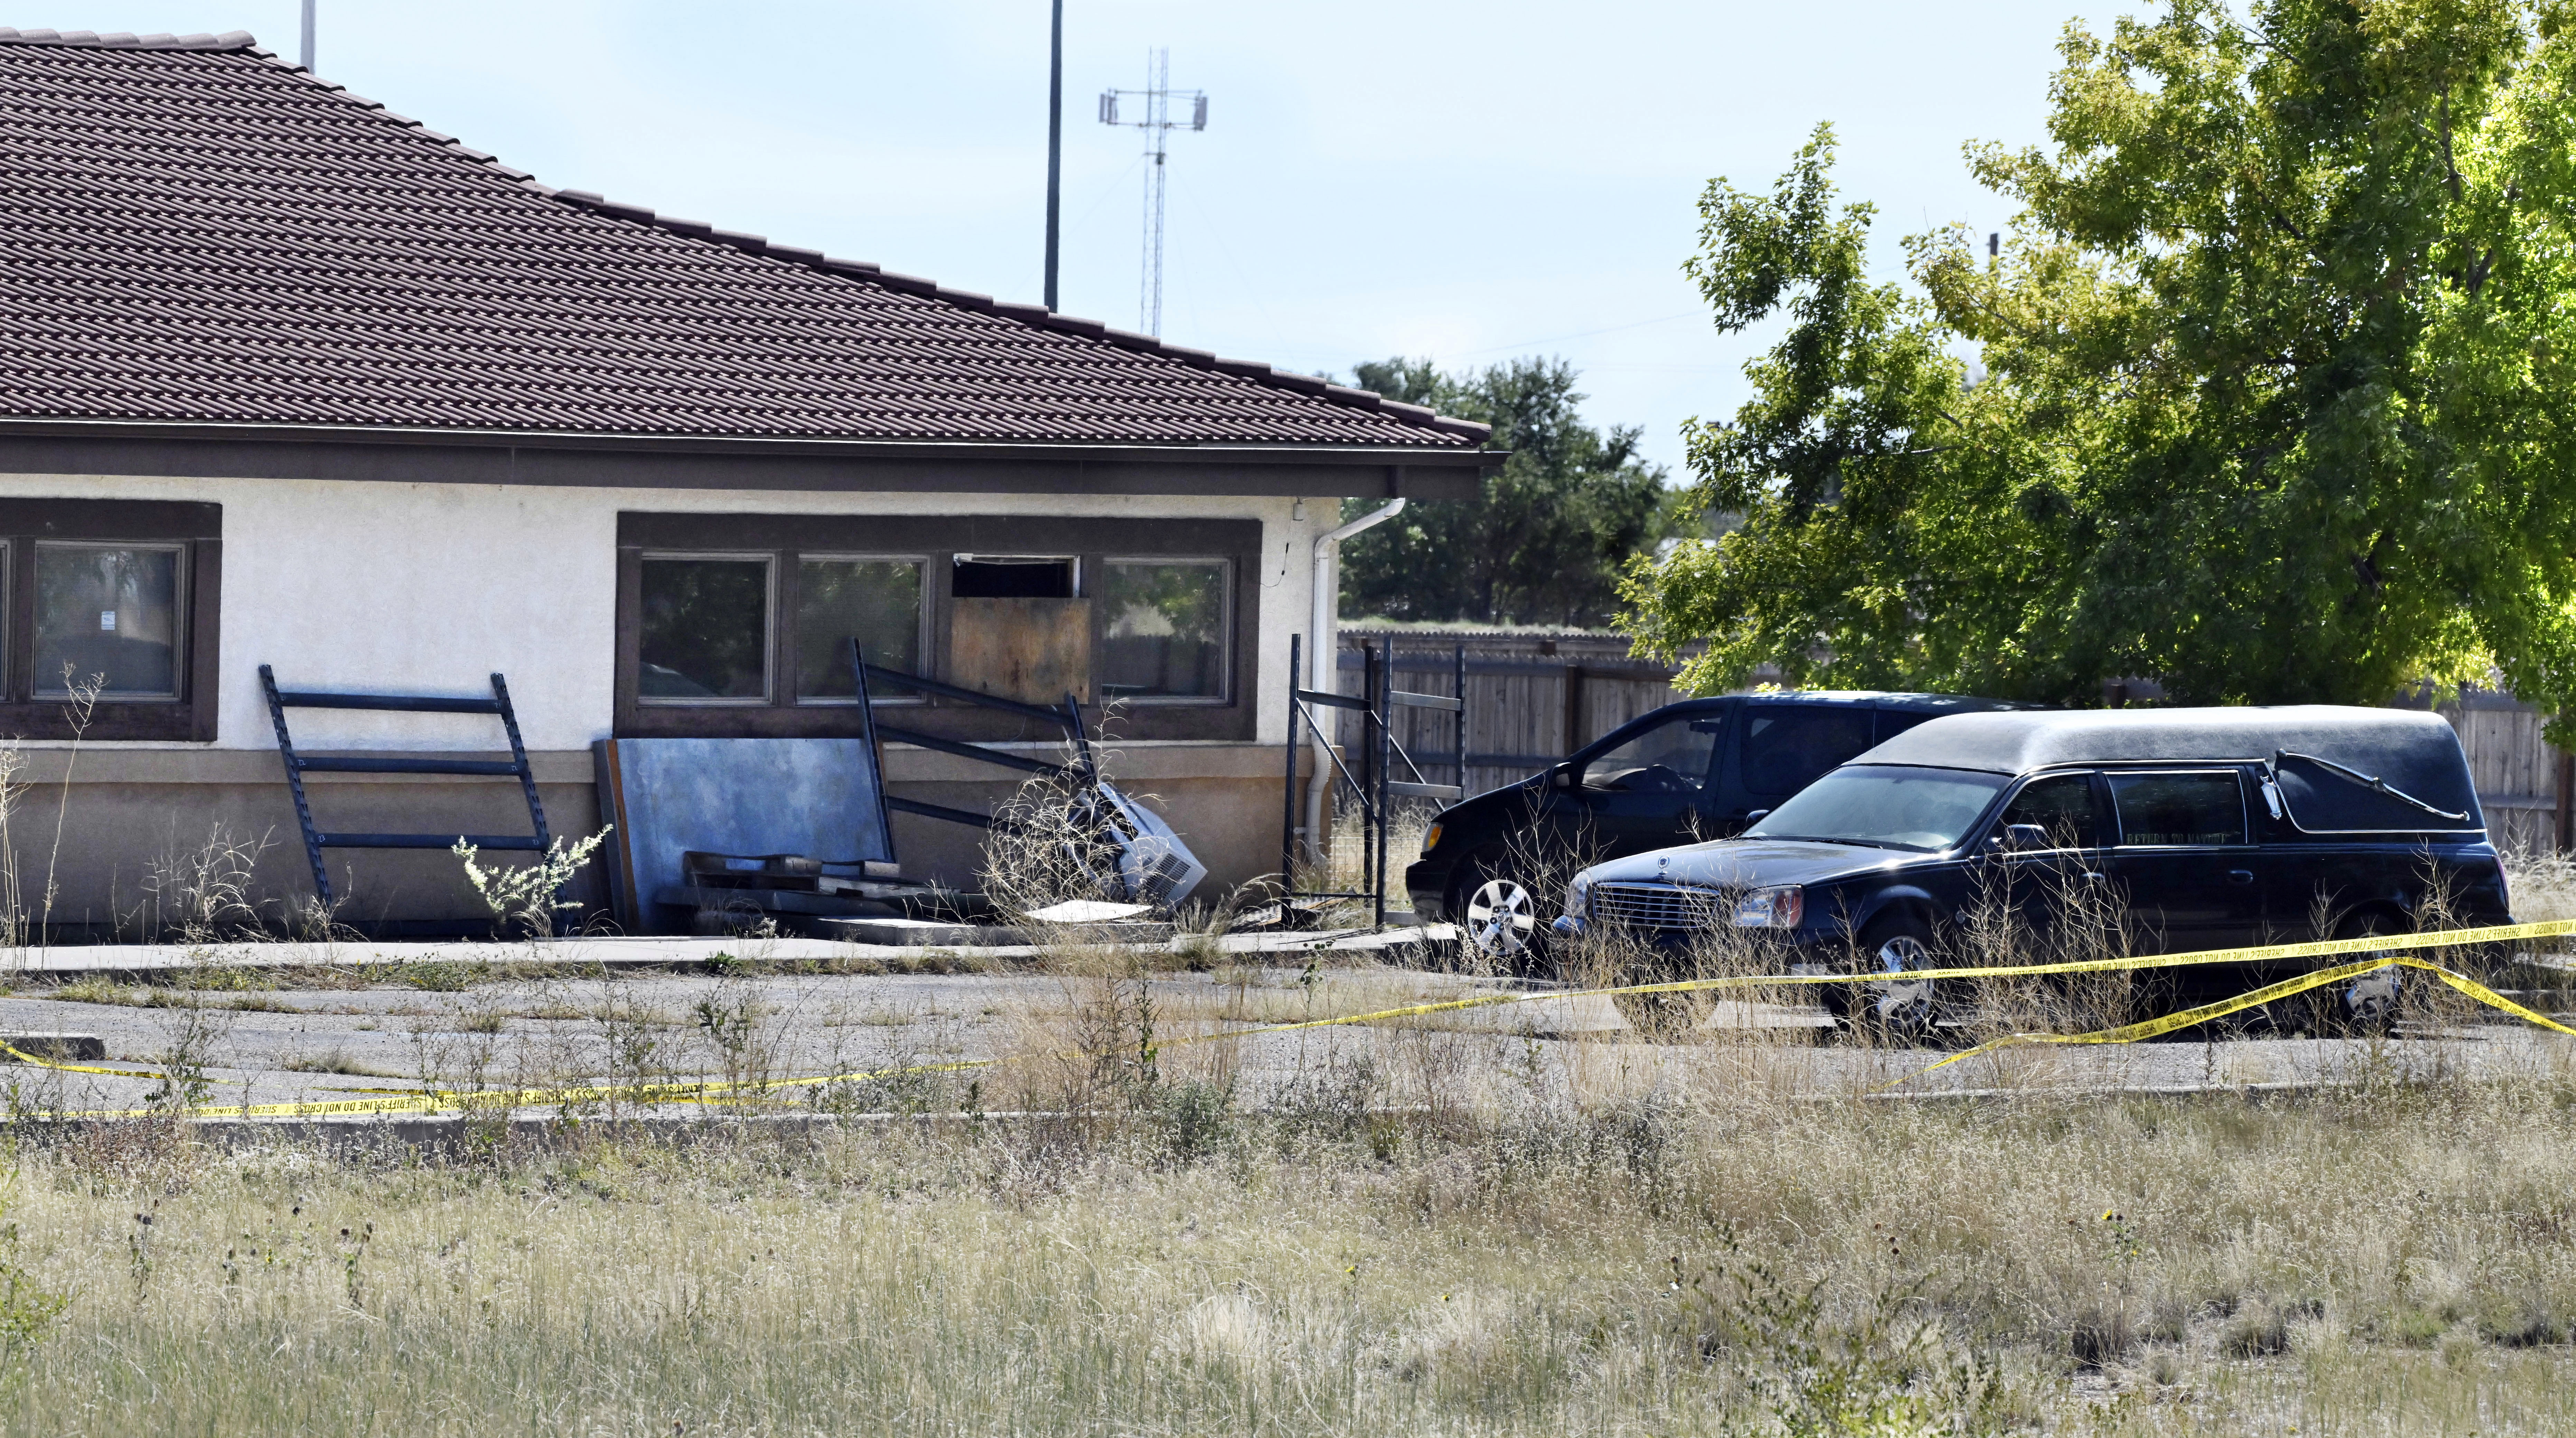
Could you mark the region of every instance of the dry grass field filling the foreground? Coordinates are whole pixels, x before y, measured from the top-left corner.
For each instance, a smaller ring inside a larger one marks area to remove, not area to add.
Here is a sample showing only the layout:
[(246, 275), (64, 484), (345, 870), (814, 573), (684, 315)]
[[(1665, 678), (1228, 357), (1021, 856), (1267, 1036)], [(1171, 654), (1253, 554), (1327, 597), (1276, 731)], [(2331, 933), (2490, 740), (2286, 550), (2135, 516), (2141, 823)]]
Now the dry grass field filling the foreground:
[(72, 1301), (0, 1402), (64, 1433), (1718, 1433), (1826, 1389), (1888, 1423), (1803, 1430), (2576, 1423), (2563, 1077), (1445, 1113), (1388, 1113), (1370, 1062), (1249, 1111), (1072, 1077), (1084, 1121), (446, 1165), (26, 1134), (13, 1263)]

